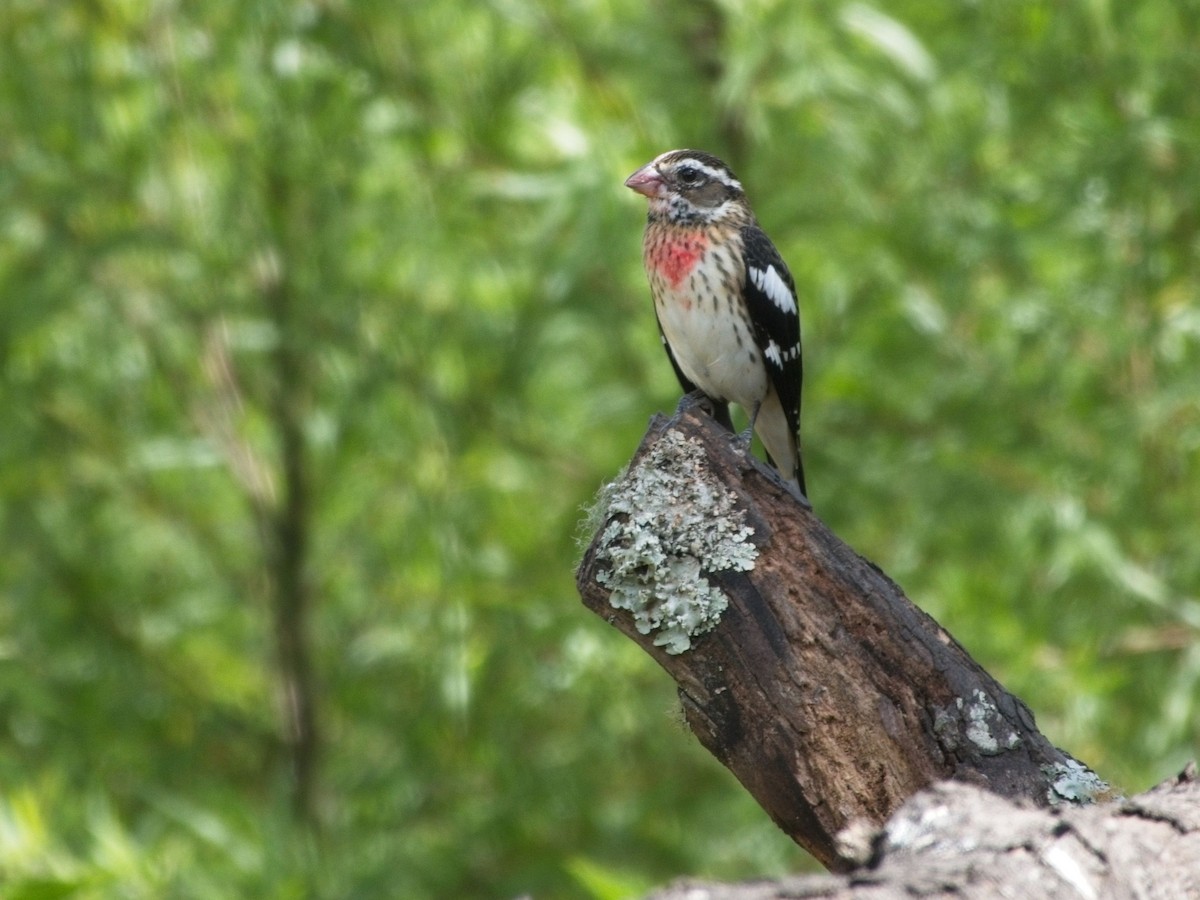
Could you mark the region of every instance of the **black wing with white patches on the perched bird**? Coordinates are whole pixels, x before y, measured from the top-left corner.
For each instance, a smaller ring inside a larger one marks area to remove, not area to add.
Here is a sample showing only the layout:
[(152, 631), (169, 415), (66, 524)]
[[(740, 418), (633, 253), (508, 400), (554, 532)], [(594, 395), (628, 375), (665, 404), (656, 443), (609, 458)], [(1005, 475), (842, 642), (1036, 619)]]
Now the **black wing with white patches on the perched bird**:
[[(742, 229), (742, 242), (746, 269), (746, 310), (754, 323), (755, 340), (762, 352), (767, 374), (787, 418), (787, 427), (796, 436), (797, 480), (806, 496), (799, 452), (800, 382), (804, 378), (804, 365), (800, 359), (800, 311), (796, 301), (796, 282), (775, 245), (757, 224), (751, 223)], [(778, 466), (784, 461), (775, 462)]]

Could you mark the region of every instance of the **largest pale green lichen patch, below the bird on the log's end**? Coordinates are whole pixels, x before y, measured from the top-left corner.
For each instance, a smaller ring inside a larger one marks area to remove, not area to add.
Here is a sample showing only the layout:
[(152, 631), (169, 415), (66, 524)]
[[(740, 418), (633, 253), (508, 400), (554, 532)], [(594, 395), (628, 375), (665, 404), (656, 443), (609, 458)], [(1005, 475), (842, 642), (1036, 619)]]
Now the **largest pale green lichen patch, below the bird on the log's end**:
[(641, 634), (683, 653), (728, 606), (706, 575), (754, 568), (754, 529), (713, 479), (703, 448), (673, 431), (605, 494), (596, 581)]

